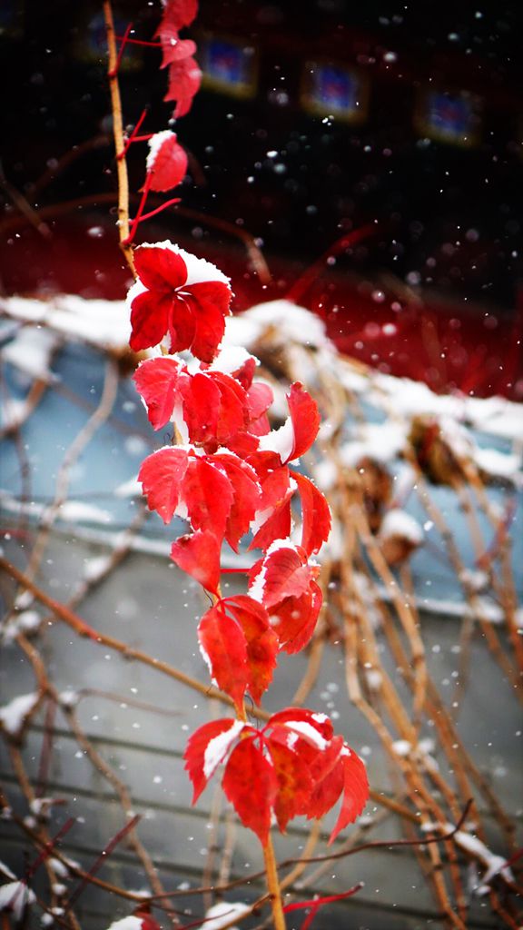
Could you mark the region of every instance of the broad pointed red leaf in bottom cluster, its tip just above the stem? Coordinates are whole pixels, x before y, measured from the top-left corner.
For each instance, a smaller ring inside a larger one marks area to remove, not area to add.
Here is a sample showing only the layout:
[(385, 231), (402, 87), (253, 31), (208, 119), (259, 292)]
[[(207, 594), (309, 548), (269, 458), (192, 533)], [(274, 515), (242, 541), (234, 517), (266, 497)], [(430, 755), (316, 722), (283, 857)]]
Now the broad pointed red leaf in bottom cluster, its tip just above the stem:
[(254, 739), (240, 740), (232, 751), (222, 787), (244, 827), (254, 830), (265, 845), (271, 828), (277, 780), (274, 766), (262, 750), (256, 748)]

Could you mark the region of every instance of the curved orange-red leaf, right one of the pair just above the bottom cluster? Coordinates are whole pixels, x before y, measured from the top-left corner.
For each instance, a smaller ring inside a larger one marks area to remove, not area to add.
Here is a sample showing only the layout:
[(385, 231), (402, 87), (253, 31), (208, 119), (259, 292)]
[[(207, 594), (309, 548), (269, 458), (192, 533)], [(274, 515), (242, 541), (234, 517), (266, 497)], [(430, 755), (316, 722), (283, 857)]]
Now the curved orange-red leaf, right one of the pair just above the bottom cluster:
[(247, 644), (248, 693), (256, 704), (273, 680), (277, 664), (278, 638), (271, 629), (267, 611), (247, 594), (225, 598), (221, 604), (242, 628)]

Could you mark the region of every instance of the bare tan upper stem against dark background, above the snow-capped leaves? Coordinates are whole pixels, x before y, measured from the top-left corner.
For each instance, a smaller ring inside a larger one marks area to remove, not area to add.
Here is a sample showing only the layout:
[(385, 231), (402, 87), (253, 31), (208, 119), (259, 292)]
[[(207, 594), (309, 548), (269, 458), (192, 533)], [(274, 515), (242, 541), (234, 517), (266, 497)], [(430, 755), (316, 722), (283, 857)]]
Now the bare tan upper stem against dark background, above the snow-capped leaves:
[(119, 155), (125, 152), (124, 124), (122, 117), (122, 100), (120, 97), (120, 86), (118, 84), (118, 52), (116, 50), (116, 36), (114, 34), (113, 7), (111, 0), (103, 0), (103, 18), (105, 20), (105, 32), (107, 33), (107, 48), (109, 60), (107, 63), (107, 78), (109, 89), (111, 91), (111, 109), (113, 111), (113, 134), (114, 150), (116, 153), (116, 170), (118, 173), (118, 234), (120, 238), (120, 248), (124, 253), (131, 272), (136, 277), (134, 270), (134, 260), (132, 256), (132, 247), (128, 242), (129, 237), (129, 182), (127, 175), (127, 162), (125, 156), (120, 158)]

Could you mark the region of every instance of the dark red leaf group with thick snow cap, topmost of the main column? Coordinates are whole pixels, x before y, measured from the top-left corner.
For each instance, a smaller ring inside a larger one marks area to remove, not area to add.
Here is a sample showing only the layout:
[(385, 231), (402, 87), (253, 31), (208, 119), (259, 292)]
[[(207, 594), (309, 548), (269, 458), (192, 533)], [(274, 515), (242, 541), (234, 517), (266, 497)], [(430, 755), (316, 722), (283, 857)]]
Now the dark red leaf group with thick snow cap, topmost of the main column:
[(168, 337), (171, 352), (190, 349), (211, 362), (230, 312), (229, 279), (169, 242), (138, 246), (134, 262), (138, 279), (127, 295), (131, 349), (150, 349)]

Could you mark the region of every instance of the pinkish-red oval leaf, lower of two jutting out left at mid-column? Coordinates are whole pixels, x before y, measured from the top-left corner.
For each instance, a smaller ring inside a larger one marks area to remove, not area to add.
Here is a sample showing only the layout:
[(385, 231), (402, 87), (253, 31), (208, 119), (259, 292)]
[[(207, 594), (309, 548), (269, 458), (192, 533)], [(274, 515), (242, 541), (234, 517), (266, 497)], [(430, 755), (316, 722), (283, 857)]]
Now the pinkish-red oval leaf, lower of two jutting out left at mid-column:
[(141, 463), (138, 480), (147, 497), (150, 511), (156, 511), (168, 524), (178, 506), (181, 482), (187, 472), (189, 457), (184, 449), (170, 445), (158, 449)]

